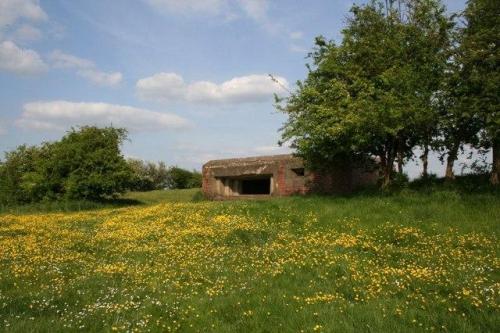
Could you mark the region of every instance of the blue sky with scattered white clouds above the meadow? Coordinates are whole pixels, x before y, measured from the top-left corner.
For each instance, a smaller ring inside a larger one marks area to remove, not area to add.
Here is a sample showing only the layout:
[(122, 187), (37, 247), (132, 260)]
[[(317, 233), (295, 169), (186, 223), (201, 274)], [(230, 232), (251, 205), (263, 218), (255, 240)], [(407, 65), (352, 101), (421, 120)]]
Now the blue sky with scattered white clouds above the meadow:
[[(305, 78), (314, 37), (339, 40), (364, 2), (0, 0), (0, 151), (113, 125), (129, 130), (125, 156), (188, 169), (288, 153), (273, 95)], [(435, 157), (431, 169), (442, 174)]]

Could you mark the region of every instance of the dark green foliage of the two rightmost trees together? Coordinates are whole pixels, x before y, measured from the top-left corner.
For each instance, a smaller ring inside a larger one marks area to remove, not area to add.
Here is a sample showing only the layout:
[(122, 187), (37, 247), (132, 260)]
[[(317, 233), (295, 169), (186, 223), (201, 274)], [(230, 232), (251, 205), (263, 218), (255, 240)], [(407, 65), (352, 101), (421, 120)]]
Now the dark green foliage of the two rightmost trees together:
[(454, 31), (446, 76), (438, 96), (439, 136), (435, 139), (441, 158), (447, 155), (448, 178), (454, 177), (453, 163), (464, 144), (489, 148), (498, 137), (499, 15), (495, 1), (469, 1), (460, 17), (466, 25)]

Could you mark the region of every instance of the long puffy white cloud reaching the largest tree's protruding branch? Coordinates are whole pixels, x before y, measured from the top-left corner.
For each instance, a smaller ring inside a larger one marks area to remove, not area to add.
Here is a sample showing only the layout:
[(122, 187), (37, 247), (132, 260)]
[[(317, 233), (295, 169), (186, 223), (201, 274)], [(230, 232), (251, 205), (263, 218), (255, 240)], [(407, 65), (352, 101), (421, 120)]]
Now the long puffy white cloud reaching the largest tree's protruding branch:
[[(288, 87), (285, 78), (276, 78)], [(187, 84), (178, 74), (158, 73), (137, 81), (136, 91), (142, 99), (152, 101), (240, 104), (269, 101), (274, 93), (283, 93), (283, 88), (265, 74), (235, 77), (221, 84), (210, 81)]]

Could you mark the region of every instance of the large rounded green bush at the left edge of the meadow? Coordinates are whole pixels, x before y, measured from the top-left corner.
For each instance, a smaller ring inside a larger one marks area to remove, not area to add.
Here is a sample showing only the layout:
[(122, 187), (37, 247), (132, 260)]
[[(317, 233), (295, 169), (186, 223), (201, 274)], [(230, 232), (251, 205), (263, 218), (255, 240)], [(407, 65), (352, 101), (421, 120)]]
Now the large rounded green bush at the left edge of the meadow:
[(21, 146), (2, 162), (0, 200), (97, 200), (123, 193), (132, 177), (120, 153), (126, 137), (123, 129), (89, 126), (60, 141)]

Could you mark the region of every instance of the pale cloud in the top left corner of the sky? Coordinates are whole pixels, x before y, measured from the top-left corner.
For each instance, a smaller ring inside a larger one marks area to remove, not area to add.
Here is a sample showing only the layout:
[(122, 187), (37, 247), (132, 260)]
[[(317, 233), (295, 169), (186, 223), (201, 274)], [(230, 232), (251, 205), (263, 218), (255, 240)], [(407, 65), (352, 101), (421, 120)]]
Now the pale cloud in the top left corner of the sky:
[(0, 28), (13, 24), (18, 19), (45, 21), (47, 14), (38, 0), (1, 0)]

